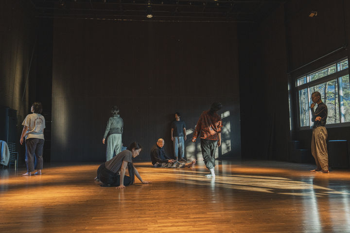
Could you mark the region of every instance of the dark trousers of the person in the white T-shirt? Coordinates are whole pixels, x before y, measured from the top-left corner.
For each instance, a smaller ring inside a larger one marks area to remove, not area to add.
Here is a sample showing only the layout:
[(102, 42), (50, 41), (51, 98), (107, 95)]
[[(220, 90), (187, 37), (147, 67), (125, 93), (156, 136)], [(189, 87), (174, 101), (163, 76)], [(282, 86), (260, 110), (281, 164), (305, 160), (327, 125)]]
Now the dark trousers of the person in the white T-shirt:
[(44, 139), (29, 138), (26, 140), (25, 161), (27, 171), (33, 172), (34, 168), (41, 170), (43, 166), (42, 153), (44, 149)]

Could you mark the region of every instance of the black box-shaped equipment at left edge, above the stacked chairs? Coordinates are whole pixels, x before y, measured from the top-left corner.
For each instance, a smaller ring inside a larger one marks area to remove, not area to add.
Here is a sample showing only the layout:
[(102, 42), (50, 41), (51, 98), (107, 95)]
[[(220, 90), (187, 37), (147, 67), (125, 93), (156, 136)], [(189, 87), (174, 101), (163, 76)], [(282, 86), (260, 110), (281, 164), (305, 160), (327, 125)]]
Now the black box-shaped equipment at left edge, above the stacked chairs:
[(17, 136), (17, 110), (0, 107), (0, 140), (7, 144), (15, 143)]

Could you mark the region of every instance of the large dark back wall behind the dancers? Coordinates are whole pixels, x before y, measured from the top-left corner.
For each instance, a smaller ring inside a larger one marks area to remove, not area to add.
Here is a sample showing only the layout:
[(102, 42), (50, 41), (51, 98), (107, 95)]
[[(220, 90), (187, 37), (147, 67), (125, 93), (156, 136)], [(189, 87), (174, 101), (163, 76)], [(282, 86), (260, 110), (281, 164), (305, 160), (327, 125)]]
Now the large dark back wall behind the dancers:
[(191, 143), (199, 115), (214, 100), (224, 108), (219, 156), (240, 157), (237, 28), (234, 23), (55, 19), (53, 36), (53, 161), (103, 161), (102, 136), (113, 105), (124, 119), (123, 142), (140, 142), (139, 160), (165, 139), (181, 112)]

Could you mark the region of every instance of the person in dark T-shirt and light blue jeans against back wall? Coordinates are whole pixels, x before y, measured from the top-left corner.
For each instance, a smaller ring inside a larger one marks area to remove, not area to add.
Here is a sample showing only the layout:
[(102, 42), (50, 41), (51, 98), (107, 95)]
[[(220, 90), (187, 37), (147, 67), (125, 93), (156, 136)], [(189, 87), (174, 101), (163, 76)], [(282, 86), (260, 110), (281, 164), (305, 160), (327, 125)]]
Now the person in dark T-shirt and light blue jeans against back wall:
[(171, 139), (174, 144), (174, 157), (177, 161), (178, 153), (180, 150), (180, 159), (179, 161), (186, 161), (185, 156), (185, 141), (186, 137), (186, 124), (184, 121), (180, 120), (180, 113), (175, 112), (175, 121), (173, 121), (171, 126)]

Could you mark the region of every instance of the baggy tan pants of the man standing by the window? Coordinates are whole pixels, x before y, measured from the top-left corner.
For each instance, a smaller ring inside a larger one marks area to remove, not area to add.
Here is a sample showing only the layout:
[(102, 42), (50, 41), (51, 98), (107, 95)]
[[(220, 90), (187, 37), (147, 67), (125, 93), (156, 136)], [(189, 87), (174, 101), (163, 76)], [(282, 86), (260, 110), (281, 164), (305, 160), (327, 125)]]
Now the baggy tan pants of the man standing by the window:
[(327, 136), (326, 127), (318, 126), (313, 129), (311, 153), (315, 158), (317, 170), (328, 171)]

